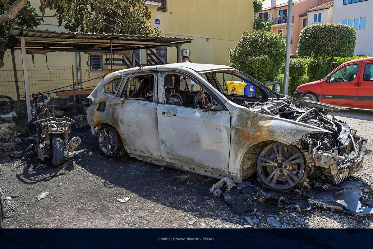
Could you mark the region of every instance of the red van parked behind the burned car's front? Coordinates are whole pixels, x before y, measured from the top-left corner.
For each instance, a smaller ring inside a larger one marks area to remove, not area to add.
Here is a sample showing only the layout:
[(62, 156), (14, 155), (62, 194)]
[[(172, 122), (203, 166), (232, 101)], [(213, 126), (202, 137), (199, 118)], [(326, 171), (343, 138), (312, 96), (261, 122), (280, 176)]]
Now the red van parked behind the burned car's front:
[(337, 106), (373, 109), (373, 57), (345, 62), (322, 80), (300, 85), (294, 96)]

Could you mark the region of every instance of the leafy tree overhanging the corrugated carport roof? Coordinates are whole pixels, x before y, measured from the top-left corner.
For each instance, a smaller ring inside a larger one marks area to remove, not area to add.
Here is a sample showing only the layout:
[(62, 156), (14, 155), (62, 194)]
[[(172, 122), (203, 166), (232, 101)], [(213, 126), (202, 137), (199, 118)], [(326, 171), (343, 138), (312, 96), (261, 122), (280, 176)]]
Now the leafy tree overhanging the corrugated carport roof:
[[(0, 1), (0, 51), (7, 50), (12, 27), (36, 28), (44, 18), (57, 18), (59, 26), (64, 25), (71, 32), (159, 35), (148, 22), (151, 11), (145, 0), (40, 0), (40, 3), (42, 15), (37, 14), (29, 0)], [(54, 15), (46, 16), (47, 10), (53, 10)], [(0, 60), (1, 63), (3, 58)]]

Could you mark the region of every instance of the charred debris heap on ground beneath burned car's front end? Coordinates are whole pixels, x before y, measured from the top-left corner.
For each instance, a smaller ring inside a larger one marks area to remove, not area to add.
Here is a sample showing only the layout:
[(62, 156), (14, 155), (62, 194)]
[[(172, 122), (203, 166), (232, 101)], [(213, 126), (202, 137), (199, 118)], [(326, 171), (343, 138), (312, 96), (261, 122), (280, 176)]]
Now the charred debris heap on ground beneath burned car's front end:
[[(214, 196), (223, 193), (217, 188), (222, 186), (222, 182), (219, 181), (210, 188)], [(373, 191), (366, 183), (355, 177), (350, 177), (338, 186), (313, 185), (307, 190), (294, 189), (288, 192), (268, 189), (260, 181), (252, 182), (242, 182), (243, 184), (238, 184), (237, 188), (230, 188), (229, 193), (224, 193), (224, 199), (232, 206), (233, 212), (254, 214), (257, 210), (275, 212), (281, 209), (296, 209), (302, 212), (302, 209), (308, 210), (311, 206), (319, 206), (360, 216), (373, 214)], [(307, 224), (304, 221), (298, 223)]]

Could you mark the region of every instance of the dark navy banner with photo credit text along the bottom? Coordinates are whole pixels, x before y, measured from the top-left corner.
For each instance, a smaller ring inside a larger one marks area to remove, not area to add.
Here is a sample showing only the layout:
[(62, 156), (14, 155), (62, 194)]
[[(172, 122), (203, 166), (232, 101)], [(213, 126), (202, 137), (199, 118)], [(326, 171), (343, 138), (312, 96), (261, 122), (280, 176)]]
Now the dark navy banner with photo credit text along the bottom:
[(2, 229), (13, 248), (373, 248), (371, 229)]

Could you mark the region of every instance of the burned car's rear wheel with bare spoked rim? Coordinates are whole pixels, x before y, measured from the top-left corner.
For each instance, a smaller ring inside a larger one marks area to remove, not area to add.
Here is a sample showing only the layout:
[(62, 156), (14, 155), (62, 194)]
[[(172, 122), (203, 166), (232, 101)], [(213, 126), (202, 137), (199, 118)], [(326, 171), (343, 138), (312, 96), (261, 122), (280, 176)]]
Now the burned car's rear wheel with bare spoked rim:
[(110, 126), (104, 126), (98, 131), (98, 147), (107, 157), (113, 157), (119, 149), (117, 131)]

